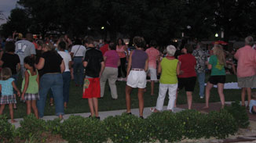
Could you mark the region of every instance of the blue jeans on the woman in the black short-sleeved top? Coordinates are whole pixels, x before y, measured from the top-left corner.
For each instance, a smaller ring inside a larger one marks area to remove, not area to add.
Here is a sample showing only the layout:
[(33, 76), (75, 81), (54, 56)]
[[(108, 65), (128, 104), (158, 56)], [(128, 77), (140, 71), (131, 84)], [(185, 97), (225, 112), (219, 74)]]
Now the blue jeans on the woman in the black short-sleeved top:
[(64, 114), (63, 79), (61, 73), (46, 73), (40, 79), (40, 98), (37, 102), (39, 117), (44, 116), (46, 96), (51, 89), (55, 102), (55, 113), (57, 116)]

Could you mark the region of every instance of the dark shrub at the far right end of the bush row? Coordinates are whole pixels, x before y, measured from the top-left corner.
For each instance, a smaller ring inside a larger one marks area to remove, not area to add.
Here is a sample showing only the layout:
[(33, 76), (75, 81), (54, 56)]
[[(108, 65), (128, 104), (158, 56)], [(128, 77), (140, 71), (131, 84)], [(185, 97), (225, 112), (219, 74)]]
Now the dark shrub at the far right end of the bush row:
[(250, 122), (247, 109), (241, 106), (238, 101), (232, 102), (230, 106), (225, 106), (225, 109), (235, 118), (239, 127), (247, 128), (249, 126)]

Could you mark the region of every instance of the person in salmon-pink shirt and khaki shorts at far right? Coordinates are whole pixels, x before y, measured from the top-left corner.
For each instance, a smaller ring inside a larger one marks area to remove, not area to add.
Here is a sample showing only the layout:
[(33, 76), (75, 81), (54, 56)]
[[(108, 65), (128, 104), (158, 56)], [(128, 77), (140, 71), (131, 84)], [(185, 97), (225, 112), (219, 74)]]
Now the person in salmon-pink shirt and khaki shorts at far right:
[(245, 46), (239, 48), (234, 55), (237, 63), (237, 82), (238, 87), (242, 88), (242, 105), (245, 106), (245, 95), (247, 92), (248, 105), (251, 101), (251, 88), (256, 88), (256, 51), (252, 48), (254, 38), (248, 36), (245, 38)]

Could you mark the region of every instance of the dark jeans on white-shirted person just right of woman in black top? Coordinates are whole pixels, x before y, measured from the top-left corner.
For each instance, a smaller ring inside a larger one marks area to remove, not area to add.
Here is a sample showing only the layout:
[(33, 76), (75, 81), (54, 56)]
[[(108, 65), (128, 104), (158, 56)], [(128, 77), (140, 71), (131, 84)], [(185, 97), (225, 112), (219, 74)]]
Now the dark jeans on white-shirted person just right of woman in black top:
[(63, 77), (63, 97), (64, 97), (64, 102), (68, 102), (71, 73), (69, 71), (64, 72), (64, 73), (62, 73), (62, 77)]

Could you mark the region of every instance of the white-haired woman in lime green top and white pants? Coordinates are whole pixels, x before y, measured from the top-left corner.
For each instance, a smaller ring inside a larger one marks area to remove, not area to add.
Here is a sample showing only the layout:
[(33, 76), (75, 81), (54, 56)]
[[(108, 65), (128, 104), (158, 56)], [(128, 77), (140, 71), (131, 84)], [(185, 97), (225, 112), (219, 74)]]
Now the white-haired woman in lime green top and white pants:
[(159, 96), (157, 98), (155, 109), (150, 109), (153, 113), (163, 110), (163, 102), (166, 98), (167, 90), (169, 91), (169, 102), (167, 109), (174, 111), (174, 102), (177, 91), (177, 75), (180, 73), (180, 64), (174, 57), (174, 53), (176, 52), (174, 45), (168, 45), (166, 47), (166, 52), (167, 56), (162, 59), (158, 66), (158, 73), (162, 72), (162, 74), (160, 77)]

